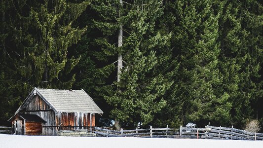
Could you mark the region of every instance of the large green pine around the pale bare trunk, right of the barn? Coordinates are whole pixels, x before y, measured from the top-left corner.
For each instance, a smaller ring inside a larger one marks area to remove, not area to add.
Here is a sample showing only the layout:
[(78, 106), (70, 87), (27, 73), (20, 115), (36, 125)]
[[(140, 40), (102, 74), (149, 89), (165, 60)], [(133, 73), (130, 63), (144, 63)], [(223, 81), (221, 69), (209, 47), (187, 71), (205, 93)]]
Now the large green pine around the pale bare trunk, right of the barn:
[[(118, 0), (96, 2), (92, 2), (93, 9), (100, 19), (94, 20), (94, 26), (104, 34), (97, 43), (104, 55), (122, 55), (125, 63), (120, 81), (114, 79), (110, 85), (112, 91), (105, 95), (113, 106), (111, 116), (122, 125), (147, 124), (165, 106), (162, 96), (173, 83), (164, 73), (170, 55), (167, 48), (170, 34), (162, 32), (157, 25), (157, 19), (163, 14), (162, 3), (158, 0), (123, 1), (121, 7)], [(123, 25), (123, 42), (117, 47), (114, 44), (120, 24)]]

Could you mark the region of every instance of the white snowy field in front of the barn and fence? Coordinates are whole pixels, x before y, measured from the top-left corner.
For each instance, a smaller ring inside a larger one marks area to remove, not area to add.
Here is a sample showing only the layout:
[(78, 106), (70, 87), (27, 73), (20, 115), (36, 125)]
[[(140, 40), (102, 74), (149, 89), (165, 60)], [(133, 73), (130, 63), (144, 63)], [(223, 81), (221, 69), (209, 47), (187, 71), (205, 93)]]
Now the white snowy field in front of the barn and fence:
[(0, 148), (263, 148), (263, 141), (0, 134)]

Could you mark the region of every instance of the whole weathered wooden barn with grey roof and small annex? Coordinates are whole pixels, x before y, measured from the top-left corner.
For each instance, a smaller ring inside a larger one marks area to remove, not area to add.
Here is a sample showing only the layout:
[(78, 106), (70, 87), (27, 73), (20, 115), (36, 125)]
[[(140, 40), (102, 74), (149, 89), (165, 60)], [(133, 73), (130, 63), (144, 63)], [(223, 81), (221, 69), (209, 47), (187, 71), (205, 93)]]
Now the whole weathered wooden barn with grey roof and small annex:
[(55, 136), (58, 130), (94, 127), (95, 113), (103, 111), (83, 89), (34, 88), (8, 121), (12, 134)]

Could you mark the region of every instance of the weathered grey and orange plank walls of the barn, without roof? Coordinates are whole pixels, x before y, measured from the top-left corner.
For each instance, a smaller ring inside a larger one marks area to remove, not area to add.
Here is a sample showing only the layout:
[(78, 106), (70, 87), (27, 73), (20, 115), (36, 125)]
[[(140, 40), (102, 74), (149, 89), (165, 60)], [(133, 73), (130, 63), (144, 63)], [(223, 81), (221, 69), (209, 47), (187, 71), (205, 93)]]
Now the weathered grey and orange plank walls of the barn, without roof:
[[(47, 121), (41, 124), (41, 133), (45, 136), (56, 136), (58, 128), (59, 130), (74, 130), (88, 129), (90, 126), (95, 126), (95, 113), (55, 112), (38, 95), (33, 96), (31, 101), (20, 113), (37, 114)], [(30, 123), (29, 125), (30, 127), (28, 127), (28, 129), (26, 127), (28, 131), (32, 129), (34, 125), (37, 126), (37, 129), (40, 127), (39, 124)], [(28, 134), (27, 131), (26, 134)], [(39, 134), (39, 131), (34, 129), (32, 135), (34, 134)]]

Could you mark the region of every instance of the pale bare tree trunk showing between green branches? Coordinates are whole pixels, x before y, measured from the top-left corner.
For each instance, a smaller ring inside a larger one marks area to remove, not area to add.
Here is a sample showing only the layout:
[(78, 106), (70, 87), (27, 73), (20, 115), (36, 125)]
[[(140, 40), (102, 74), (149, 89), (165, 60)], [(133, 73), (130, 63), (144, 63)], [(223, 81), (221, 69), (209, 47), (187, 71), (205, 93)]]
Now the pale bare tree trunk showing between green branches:
[[(122, 7), (122, 0), (119, 0), (120, 6)], [(119, 12), (120, 17), (120, 12)], [(118, 47), (122, 46), (122, 24), (119, 25), (119, 35), (118, 35)], [(122, 70), (122, 55), (118, 54), (118, 67), (117, 67), (117, 82), (120, 81), (120, 74)], [(118, 90), (121, 91), (121, 90)], [(118, 119), (115, 119), (114, 127), (117, 131), (120, 131), (120, 122)]]

